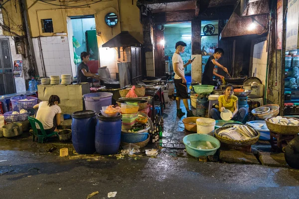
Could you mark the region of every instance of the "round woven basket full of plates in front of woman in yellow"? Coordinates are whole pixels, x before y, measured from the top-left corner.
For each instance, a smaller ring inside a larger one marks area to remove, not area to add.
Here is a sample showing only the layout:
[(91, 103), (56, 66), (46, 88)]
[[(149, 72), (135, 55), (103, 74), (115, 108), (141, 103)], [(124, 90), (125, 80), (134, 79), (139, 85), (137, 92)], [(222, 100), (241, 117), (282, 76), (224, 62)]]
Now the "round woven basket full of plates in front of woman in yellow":
[(259, 138), (260, 138), (260, 132), (257, 131), (257, 130), (255, 130), (255, 132), (257, 133), (257, 136), (249, 138), (249, 139), (246, 139), (246, 140), (233, 140), (233, 139), (222, 137), (222, 136), (218, 135), (218, 133), (220, 131), (222, 131), (224, 129), (227, 129), (227, 128), (230, 128), (230, 127), (233, 127), (233, 126), (225, 126), (225, 127), (217, 128), (215, 130), (215, 137), (220, 142), (223, 142), (223, 143), (228, 144), (228, 145), (239, 146), (239, 147), (240, 146), (241, 147), (251, 146), (251, 145), (255, 144), (259, 140)]

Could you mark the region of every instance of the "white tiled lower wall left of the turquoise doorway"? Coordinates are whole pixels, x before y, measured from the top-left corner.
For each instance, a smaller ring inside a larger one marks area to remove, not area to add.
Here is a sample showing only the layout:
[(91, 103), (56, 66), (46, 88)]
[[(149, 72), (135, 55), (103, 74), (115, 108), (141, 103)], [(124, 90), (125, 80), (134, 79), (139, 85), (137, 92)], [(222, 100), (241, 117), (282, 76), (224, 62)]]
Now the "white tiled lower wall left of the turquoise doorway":
[(67, 36), (40, 37), (33, 38), (34, 53), (36, 57), (37, 67), (40, 76), (42, 74), (42, 56), (45, 66), (46, 76), (61, 76), (62, 74), (72, 74), (70, 50)]

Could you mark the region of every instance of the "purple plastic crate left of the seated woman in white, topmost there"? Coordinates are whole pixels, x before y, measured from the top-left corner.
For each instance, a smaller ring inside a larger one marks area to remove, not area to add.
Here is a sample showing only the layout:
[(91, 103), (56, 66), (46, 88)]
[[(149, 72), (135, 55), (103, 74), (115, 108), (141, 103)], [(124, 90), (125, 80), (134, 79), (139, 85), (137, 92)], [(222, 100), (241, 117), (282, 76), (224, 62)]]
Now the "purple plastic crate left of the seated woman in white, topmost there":
[(25, 109), (28, 112), (30, 111), (31, 114), (34, 114), (33, 106), (38, 103), (38, 99), (34, 97), (12, 97), (10, 98), (10, 101), (13, 111), (20, 111), (21, 109)]

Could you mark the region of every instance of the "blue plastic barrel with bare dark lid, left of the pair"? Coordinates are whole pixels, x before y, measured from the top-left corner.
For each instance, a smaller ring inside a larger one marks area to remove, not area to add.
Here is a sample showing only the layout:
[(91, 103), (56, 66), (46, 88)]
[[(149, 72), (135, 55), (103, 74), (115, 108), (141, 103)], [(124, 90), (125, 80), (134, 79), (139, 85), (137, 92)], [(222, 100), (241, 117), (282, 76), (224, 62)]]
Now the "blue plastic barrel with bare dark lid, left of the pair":
[(96, 112), (81, 110), (72, 114), (72, 141), (79, 154), (93, 154), (95, 148)]

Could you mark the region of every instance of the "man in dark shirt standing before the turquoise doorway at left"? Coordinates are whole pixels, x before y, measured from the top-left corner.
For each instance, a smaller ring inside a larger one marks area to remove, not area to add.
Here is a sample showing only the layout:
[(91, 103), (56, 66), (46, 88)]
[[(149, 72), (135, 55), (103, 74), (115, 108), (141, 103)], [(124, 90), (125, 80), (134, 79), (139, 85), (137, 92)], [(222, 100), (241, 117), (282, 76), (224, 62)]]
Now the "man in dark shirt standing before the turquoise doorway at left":
[(88, 79), (89, 77), (99, 80), (100, 76), (94, 73), (90, 73), (89, 68), (86, 65), (89, 62), (89, 53), (82, 52), (81, 60), (82, 62), (79, 64), (77, 70), (78, 83), (91, 82), (91, 79)]

